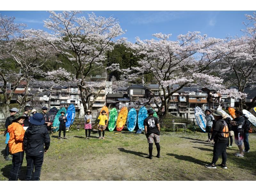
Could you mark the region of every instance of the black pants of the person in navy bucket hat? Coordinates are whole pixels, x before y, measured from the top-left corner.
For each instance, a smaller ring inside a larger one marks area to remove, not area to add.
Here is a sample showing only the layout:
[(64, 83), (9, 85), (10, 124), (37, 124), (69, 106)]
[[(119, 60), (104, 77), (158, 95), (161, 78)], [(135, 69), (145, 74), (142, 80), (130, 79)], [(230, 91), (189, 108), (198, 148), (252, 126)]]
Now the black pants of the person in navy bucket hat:
[[(40, 173), (44, 161), (44, 153), (36, 156), (26, 155), (27, 173), (26, 180), (40, 180)], [(35, 172), (32, 176), (35, 167)]]

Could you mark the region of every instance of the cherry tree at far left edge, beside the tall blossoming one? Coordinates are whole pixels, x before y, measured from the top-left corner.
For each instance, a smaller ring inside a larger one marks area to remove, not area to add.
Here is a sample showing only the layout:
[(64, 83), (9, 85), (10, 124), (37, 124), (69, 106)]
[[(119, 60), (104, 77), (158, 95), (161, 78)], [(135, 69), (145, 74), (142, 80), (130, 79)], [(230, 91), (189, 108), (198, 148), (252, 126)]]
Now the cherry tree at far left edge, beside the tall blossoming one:
[[(1, 109), (4, 116), (9, 115), (10, 100), (21, 81), (26, 81), (25, 96), (20, 103), (20, 109), (27, 103), (29, 80), (35, 75), (41, 75), (42, 65), (51, 57), (51, 47), (35, 36), (24, 31), (25, 24), (14, 23), (14, 17), (0, 15), (0, 83), (3, 96)], [(7, 84), (12, 88), (7, 90)]]

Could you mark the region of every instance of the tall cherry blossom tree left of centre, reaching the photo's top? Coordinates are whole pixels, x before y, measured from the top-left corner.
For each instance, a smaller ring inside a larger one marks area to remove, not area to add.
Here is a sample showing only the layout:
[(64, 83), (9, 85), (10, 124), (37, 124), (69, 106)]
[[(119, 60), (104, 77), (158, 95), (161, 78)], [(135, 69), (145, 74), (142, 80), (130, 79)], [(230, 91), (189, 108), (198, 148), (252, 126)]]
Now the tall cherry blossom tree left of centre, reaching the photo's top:
[[(42, 30), (29, 32), (47, 42), (52, 48), (75, 68), (75, 79), (80, 90), (84, 111), (91, 109), (91, 83), (86, 78), (92, 72), (104, 67), (106, 52), (113, 50), (115, 38), (124, 32), (113, 17), (97, 17), (94, 13), (88, 18), (80, 16), (81, 11), (49, 11), (49, 19), (44, 21), (44, 27), (52, 33)], [(100, 89), (99, 89), (100, 90)], [(94, 95), (94, 94), (93, 94)], [(94, 95), (93, 100), (96, 100)]]

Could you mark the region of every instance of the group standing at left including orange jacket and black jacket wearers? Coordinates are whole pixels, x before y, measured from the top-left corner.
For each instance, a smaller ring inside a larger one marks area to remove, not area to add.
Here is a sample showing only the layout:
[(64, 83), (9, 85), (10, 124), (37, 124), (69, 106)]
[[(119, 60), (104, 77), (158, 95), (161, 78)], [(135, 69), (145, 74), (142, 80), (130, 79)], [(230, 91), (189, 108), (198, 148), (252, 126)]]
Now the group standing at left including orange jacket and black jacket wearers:
[(5, 122), (7, 128), (5, 160), (12, 160), (9, 180), (18, 180), (24, 152), (27, 161), (26, 180), (40, 179), (44, 153), (50, 146), (50, 135), (44, 115), (32, 110), (33, 112), (28, 116), (31, 110), (32, 108), (26, 106), (24, 113), (19, 113), (17, 108), (12, 108), (10, 117)]

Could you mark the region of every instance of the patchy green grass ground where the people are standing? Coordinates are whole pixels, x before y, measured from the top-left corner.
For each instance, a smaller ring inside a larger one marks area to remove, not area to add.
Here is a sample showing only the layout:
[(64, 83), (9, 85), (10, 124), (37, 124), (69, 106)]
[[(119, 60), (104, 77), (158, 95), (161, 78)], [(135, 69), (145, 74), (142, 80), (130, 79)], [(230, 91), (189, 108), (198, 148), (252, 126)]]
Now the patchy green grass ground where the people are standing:
[[(44, 155), (41, 180), (256, 180), (256, 134), (250, 134), (250, 153), (235, 157), (238, 148), (228, 148), (228, 169), (204, 167), (212, 161), (213, 144), (205, 142), (207, 134), (173, 133), (161, 130), (161, 158), (148, 156), (144, 134), (124, 131), (106, 132), (105, 140), (85, 138), (84, 130), (66, 133), (68, 139), (58, 140), (51, 134), (51, 145)], [(63, 137), (63, 134), (61, 134)], [(0, 135), (0, 180), (8, 180), (11, 161), (4, 160), (5, 137)], [(156, 146), (153, 146), (156, 156)], [(221, 163), (221, 157), (217, 164)], [(20, 180), (25, 179), (24, 157)]]

